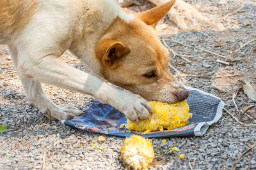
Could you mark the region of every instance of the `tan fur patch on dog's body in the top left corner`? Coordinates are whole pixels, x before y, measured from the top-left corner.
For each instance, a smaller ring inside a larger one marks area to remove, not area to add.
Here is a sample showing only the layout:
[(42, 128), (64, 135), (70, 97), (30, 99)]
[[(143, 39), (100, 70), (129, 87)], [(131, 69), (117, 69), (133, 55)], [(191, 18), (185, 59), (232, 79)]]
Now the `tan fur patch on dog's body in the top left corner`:
[(37, 0), (0, 1), (0, 39), (19, 34), (36, 11)]

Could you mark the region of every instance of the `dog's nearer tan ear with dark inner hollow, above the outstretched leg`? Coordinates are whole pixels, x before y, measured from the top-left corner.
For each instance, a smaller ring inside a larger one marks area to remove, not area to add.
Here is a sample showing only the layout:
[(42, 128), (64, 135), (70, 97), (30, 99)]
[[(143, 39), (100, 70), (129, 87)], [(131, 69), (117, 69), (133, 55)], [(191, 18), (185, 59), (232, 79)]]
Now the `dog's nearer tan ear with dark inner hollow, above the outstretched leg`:
[(127, 46), (114, 39), (101, 40), (95, 48), (96, 57), (101, 60), (104, 66), (108, 67), (113, 66), (116, 60), (129, 51)]

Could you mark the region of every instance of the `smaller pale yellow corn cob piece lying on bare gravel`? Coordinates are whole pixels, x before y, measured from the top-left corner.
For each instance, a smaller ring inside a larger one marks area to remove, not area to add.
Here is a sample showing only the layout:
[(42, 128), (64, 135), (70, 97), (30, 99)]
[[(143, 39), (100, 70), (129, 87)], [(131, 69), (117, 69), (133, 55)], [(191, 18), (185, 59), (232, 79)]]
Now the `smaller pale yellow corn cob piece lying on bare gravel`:
[(138, 135), (126, 138), (120, 158), (132, 169), (147, 169), (154, 159), (152, 141)]

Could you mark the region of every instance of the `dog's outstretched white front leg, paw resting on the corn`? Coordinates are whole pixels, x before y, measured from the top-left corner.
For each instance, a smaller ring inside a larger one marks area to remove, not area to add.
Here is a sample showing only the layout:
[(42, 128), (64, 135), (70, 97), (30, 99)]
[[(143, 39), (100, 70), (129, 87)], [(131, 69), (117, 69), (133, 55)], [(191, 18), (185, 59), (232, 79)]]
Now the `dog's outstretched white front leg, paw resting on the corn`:
[[(24, 64), (18, 64), (19, 73), (23, 77), (90, 94), (99, 99), (101, 103), (110, 104), (122, 111), (130, 120), (137, 122), (139, 118), (148, 118), (149, 113), (152, 112), (152, 106), (139, 95), (116, 89), (95, 76), (69, 66), (54, 56), (43, 57), (35, 63), (29, 62), (31, 60), (26, 60)], [(61, 115), (54, 117), (60, 119)]]

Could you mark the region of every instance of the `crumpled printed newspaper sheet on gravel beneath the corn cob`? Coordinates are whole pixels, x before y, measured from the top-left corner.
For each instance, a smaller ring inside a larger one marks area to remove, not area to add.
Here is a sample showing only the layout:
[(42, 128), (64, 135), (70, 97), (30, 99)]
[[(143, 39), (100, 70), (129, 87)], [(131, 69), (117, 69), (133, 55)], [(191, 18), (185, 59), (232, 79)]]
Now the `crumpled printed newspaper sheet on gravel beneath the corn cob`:
[(189, 105), (189, 112), (193, 114), (189, 119), (189, 124), (173, 130), (155, 131), (149, 134), (129, 131), (125, 126), (127, 118), (119, 110), (116, 110), (109, 104), (102, 104), (99, 101), (93, 101), (88, 110), (72, 120), (61, 121), (72, 128), (83, 131), (98, 132), (113, 136), (129, 137), (132, 134), (138, 134), (145, 138), (174, 137), (174, 136), (203, 136), (209, 125), (220, 120), (225, 103), (212, 94), (203, 92), (192, 87), (185, 87), (189, 90), (189, 97), (186, 99)]

